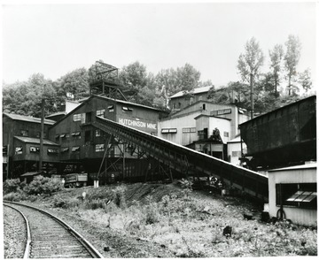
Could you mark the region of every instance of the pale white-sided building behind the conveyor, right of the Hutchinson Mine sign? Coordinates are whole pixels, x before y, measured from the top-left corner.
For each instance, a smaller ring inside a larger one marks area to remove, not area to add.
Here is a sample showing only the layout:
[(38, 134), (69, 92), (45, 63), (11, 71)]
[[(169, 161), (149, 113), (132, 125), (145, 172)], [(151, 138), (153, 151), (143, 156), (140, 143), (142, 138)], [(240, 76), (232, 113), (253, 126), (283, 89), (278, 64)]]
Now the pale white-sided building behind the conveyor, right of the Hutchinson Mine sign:
[(248, 112), (235, 104), (198, 101), (161, 119), (158, 135), (167, 141), (231, 162), (233, 152), (241, 149), (231, 146), (229, 150), (227, 143), (238, 136), (239, 124), (248, 119)]

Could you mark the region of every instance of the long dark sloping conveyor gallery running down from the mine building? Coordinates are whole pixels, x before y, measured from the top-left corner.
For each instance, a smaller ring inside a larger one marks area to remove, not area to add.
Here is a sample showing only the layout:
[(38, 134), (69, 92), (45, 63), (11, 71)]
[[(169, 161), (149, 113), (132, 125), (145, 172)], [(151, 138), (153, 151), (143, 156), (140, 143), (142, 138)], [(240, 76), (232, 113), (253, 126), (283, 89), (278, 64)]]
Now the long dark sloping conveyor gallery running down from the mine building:
[(148, 156), (169, 165), (175, 171), (189, 172), (198, 176), (214, 176), (237, 190), (262, 202), (268, 202), (268, 177), (258, 172), (210, 157), (109, 119), (96, 117), (92, 125), (144, 150)]

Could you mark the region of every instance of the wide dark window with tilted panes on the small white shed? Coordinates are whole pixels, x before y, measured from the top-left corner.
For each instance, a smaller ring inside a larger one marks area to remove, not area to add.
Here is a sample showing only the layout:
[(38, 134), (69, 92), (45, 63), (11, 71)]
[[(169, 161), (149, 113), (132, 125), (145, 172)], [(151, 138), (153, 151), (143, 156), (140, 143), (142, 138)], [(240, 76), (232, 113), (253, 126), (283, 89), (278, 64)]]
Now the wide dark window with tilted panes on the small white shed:
[(316, 183), (276, 184), (276, 205), (316, 209)]

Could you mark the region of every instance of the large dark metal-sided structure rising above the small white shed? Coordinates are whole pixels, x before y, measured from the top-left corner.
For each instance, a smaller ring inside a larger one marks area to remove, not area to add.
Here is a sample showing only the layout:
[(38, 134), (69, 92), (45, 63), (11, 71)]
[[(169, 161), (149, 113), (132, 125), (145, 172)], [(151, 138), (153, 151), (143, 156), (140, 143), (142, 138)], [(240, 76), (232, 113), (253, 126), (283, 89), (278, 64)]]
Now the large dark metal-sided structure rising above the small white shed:
[(242, 125), (241, 134), (247, 144), (248, 154), (253, 155), (261, 151), (298, 143), (306, 140), (305, 136), (307, 139), (315, 138), (314, 107), (314, 100), (307, 98)]

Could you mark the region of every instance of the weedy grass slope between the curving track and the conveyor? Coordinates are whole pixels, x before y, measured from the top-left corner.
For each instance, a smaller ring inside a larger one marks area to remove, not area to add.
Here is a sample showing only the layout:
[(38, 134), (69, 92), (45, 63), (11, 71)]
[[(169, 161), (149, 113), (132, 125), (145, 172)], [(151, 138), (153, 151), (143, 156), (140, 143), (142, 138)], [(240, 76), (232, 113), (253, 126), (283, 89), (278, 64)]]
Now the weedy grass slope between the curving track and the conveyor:
[[(196, 195), (173, 185), (85, 187), (45, 200), (96, 226), (154, 241), (178, 257), (317, 255), (316, 228), (246, 220), (243, 214), (252, 210), (252, 204)], [(225, 226), (232, 227), (230, 237), (222, 235)]]

